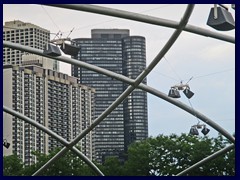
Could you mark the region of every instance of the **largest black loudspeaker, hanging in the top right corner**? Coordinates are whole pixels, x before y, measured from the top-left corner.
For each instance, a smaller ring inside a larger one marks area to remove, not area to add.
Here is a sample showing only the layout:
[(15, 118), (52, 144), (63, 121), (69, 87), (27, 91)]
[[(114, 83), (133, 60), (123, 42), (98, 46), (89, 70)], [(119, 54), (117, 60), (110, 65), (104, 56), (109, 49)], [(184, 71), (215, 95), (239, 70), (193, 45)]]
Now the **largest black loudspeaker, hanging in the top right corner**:
[(214, 8), (211, 8), (207, 25), (219, 31), (229, 31), (235, 28), (235, 21), (230, 12), (217, 7), (217, 19), (214, 19)]

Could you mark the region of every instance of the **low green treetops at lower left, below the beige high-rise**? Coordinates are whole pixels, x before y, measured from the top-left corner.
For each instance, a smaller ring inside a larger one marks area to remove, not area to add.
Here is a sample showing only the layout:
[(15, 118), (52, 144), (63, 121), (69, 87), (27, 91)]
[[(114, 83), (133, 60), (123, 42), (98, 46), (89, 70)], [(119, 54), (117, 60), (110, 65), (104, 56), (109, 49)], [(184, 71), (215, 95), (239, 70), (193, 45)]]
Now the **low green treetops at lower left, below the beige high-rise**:
[[(49, 159), (51, 159), (60, 149), (52, 151), (50, 154), (32, 152), (37, 157), (38, 162), (34, 165), (24, 166), (16, 155), (4, 157), (3, 175), (5, 176), (31, 176)], [(76, 154), (67, 152), (63, 157), (50, 165), (40, 176), (93, 176), (96, 175)]]

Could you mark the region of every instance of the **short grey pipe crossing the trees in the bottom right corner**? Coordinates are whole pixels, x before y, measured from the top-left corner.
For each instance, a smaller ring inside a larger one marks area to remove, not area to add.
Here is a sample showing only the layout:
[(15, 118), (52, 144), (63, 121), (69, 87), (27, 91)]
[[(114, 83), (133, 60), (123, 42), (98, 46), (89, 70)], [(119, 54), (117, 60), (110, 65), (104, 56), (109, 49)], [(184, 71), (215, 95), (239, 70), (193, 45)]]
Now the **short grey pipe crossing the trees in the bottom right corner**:
[(221, 156), (222, 154), (225, 154), (226, 152), (234, 149), (235, 145), (234, 144), (231, 144), (215, 153), (213, 153), (212, 155), (202, 159), (201, 161), (197, 162), (196, 164), (190, 166), (189, 168), (183, 170), (182, 172), (178, 173), (176, 176), (183, 176), (184, 174), (188, 173), (189, 171), (195, 169), (195, 168), (198, 168), (200, 167), (201, 165), (213, 160), (213, 159), (216, 159), (218, 156)]

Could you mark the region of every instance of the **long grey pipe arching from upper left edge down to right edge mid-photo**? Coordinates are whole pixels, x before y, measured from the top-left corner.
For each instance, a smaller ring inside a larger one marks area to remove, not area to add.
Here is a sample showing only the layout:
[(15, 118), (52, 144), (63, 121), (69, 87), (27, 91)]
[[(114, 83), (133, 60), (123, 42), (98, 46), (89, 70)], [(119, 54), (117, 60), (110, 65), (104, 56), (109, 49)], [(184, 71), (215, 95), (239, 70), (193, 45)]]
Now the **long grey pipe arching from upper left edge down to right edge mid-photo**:
[[(106, 70), (104, 68), (101, 68), (101, 67), (98, 67), (98, 66), (95, 66), (95, 65), (92, 65), (92, 64), (88, 64), (88, 63), (85, 63), (85, 62), (82, 62), (82, 61), (79, 61), (79, 60), (71, 59), (71, 58), (64, 57), (64, 56), (50, 57), (50, 56), (47, 56), (47, 55), (43, 54), (43, 50), (39, 50), (39, 49), (35, 49), (35, 48), (20, 45), (20, 44), (7, 42), (7, 41), (3, 41), (3, 46), (13, 48), (13, 49), (18, 49), (18, 50), (33, 53), (33, 54), (37, 54), (37, 55), (44, 56), (44, 57), (49, 57), (49, 58), (52, 58), (52, 59), (56, 59), (58, 61), (73, 64), (75, 66), (84, 67), (88, 70), (92, 70), (92, 71), (104, 74), (106, 76), (115, 78), (115, 79), (120, 80), (122, 82), (125, 82), (127, 84), (134, 85), (134, 80), (133, 79), (130, 79), (130, 78), (128, 78), (126, 76), (123, 76), (121, 74), (117, 74), (115, 72), (112, 72), (112, 71)], [(176, 99), (168, 97), (166, 94), (164, 94), (164, 93), (162, 93), (162, 92), (160, 92), (160, 91), (158, 91), (158, 90), (156, 90), (156, 89), (154, 89), (150, 86), (147, 86), (143, 83), (140, 83), (138, 88), (140, 88), (140, 89), (142, 89), (142, 90), (144, 90), (144, 91), (146, 91), (146, 92), (148, 92), (152, 95), (155, 95), (155, 96), (157, 96), (157, 97), (159, 97), (159, 98), (161, 98), (161, 99), (163, 99), (163, 100), (165, 100), (165, 101), (183, 109), (184, 111), (196, 116), (197, 118), (199, 118), (200, 120), (202, 120), (206, 124), (210, 125), (216, 131), (220, 132), (223, 136), (228, 138), (231, 142), (235, 143), (235, 138), (230, 133), (228, 133), (224, 128), (222, 128), (221, 126), (216, 124), (213, 120), (204, 116), (200, 112), (192, 109), (191, 107), (183, 104), (182, 102), (180, 102)]]

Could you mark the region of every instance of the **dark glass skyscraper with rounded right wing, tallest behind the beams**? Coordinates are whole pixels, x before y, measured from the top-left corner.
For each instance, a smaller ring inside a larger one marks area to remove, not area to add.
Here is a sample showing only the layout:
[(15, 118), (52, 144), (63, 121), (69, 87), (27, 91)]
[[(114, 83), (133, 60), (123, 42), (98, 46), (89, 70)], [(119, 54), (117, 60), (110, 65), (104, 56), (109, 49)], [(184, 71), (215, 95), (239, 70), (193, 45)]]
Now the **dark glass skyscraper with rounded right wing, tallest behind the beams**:
[[(91, 38), (74, 39), (80, 46), (75, 59), (135, 79), (146, 67), (145, 38), (130, 36), (127, 29), (93, 29)], [(96, 89), (95, 113), (98, 117), (127, 88), (111, 77), (72, 66), (80, 83)], [(146, 79), (143, 83), (146, 83)], [(148, 137), (147, 94), (136, 89), (95, 129), (95, 158), (103, 162), (119, 156), (129, 144)]]

